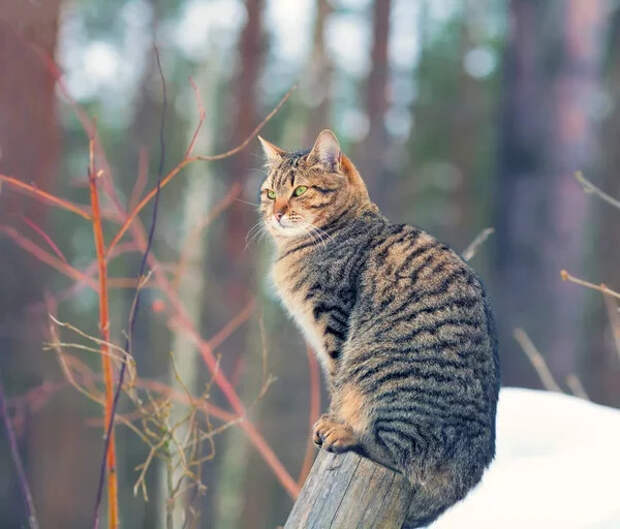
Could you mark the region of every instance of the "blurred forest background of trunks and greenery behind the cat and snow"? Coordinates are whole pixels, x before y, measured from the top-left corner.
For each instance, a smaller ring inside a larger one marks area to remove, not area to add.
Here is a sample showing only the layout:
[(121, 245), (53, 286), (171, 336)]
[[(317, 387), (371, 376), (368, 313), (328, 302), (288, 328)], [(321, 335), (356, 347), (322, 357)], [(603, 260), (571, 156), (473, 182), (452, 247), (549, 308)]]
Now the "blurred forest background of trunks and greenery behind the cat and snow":
[[(110, 245), (156, 186), (163, 112), (163, 175), (192, 152), (251, 141), (184, 164), (161, 189), (131, 340), (137, 375), (115, 429), (121, 526), (284, 523), (327, 403), (266, 278), (269, 242), (253, 230), (254, 129), (295, 84), (262, 136), (297, 150), (331, 128), (390, 219), (457, 251), (494, 228), (471, 263), (495, 306), (504, 385), (541, 387), (513, 336), (521, 328), (563, 390), (577, 377), (591, 400), (620, 407), (617, 300), (560, 275), (620, 289), (620, 210), (574, 176), (620, 197), (619, 2), (0, 0), (0, 72), (0, 379), (41, 527), (92, 525), (104, 423), (75, 387), (103, 394), (93, 225), (37, 190), (91, 212), (96, 126)], [(195, 138), (192, 83), (205, 111)], [(108, 261), (118, 347), (153, 205)], [(157, 443), (127, 423), (196, 441), (175, 448), (169, 437), (144, 468)], [(2, 431), (0, 526), (24, 527)], [(187, 453), (191, 468), (179, 463)], [(141, 470), (148, 501), (134, 494)], [(171, 479), (184, 480), (174, 508)]]

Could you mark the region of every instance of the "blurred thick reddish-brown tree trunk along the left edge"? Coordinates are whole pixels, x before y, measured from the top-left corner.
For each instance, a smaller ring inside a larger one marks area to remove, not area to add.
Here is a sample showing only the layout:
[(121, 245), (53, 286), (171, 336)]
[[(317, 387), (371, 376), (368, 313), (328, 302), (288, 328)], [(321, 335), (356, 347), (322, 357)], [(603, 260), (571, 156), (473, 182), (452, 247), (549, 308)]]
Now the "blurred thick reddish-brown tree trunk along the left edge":
[[(37, 51), (54, 57), (59, 10), (59, 0), (0, 0), (0, 173), (52, 192), (60, 127), (56, 118), (54, 78)], [(22, 216), (48, 231), (45, 225), (48, 208), (0, 185), (0, 224), (11, 224), (36, 239), (37, 235), (32, 235)], [(40, 353), (47, 314), (32, 310), (43, 297), (49, 274), (45, 265), (17, 248), (13, 241), (0, 237), (0, 277), (0, 362), (5, 368), (7, 393), (12, 394), (21, 391), (26, 381), (33, 384), (45, 379), (48, 370), (54, 368), (51, 355)], [(76, 430), (80, 427), (81, 419), (76, 414), (59, 415), (57, 411), (32, 420), (28, 416), (23, 425), (20, 448), (44, 526), (67, 526), (75, 511), (71, 505), (75, 487), (70, 482), (71, 475), (65, 472), (63, 450), (59, 449), (55, 457), (45, 461), (37, 460), (37, 456), (46, 453), (49, 447), (72, 446), (73, 462), (80, 461), (84, 444), (72, 442), (79, 438)], [(5, 465), (4, 456), (0, 458), (0, 466), (11, 468)], [(86, 471), (84, 479), (87, 474)], [(54, 494), (49, 490), (50, 476), (54, 476), (55, 491), (71, 492), (62, 497)], [(23, 510), (13, 472), (2, 476), (1, 486), (3, 527), (20, 527)]]

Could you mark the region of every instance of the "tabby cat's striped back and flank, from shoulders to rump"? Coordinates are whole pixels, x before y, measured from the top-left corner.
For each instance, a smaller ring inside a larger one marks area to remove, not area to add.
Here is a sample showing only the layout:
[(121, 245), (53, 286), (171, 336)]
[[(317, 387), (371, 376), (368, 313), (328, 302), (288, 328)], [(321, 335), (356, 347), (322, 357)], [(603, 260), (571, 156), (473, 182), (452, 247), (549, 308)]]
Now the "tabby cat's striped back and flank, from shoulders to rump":
[(359, 295), (340, 380), (367, 396), (374, 435), (395, 453), (409, 442), (423, 452), (402, 456), (406, 472), (424, 480), (448, 469), (460, 484), (449, 495), (462, 497), (495, 445), (499, 361), (481, 281), (423, 230), (390, 225), (372, 245)]

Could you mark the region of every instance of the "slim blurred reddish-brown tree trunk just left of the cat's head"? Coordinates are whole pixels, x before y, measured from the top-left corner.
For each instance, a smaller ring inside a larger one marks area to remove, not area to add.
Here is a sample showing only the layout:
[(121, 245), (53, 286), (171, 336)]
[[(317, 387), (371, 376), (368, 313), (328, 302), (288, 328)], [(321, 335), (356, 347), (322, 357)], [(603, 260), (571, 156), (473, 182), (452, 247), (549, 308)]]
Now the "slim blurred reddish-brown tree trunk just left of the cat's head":
[[(235, 76), (234, 93), (231, 105), (234, 110), (232, 123), (234, 129), (230, 145), (237, 145), (244, 140), (254, 129), (259, 120), (258, 111), (258, 79), (263, 67), (263, 15), (264, 0), (245, 0), (247, 21), (241, 32), (238, 49), (239, 64)], [(247, 182), (251, 170), (255, 167), (252, 158), (252, 149), (243, 149), (230, 159), (227, 164), (227, 183)], [(242, 196), (246, 201), (255, 201), (256, 193)], [(221, 252), (218, 267), (225, 278), (221, 286), (221, 299), (225, 303), (224, 310), (230, 317), (239, 312), (247, 303), (247, 293), (254, 290), (252, 265), (254, 256), (246, 250), (246, 236), (250, 226), (258, 219), (256, 210), (243, 201), (234, 201), (228, 208), (226, 232), (223, 234), (219, 247)], [(255, 247), (254, 247), (255, 248)], [(240, 281), (239, 278), (244, 278)], [(214, 285), (215, 286), (215, 285)], [(217, 287), (216, 287), (217, 288)], [(211, 289), (213, 292), (213, 289)], [(214, 308), (211, 308), (214, 310)], [(213, 319), (221, 317), (222, 307), (217, 307), (219, 315), (213, 314)], [(250, 340), (245, 328), (241, 328), (231, 336), (222, 350), (221, 369), (229, 373), (235, 372), (244, 361), (244, 355), (260, 357), (256, 344), (260, 341)], [(241, 376), (244, 374), (241, 372)], [(242, 400), (254, 397), (251, 384), (238, 385)], [(237, 429), (233, 429), (222, 436), (219, 441), (222, 450), (218, 453), (217, 487), (222, 494), (216, 499), (215, 527), (237, 529), (245, 527), (243, 518), (247, 514), (248, 499), (245, 486), (249, 481), (248, 475), (253, 472), (246, 462), (250, 457), (247, 440)], [(218, 445), (220, 446), (220, 445)], [(261, 489), (262, 490), (262, 489)], [(255, 496), (255, 495), (254, 495)], [(263, 505), (264, 507), (264, 505)], [(260, 523), (256, 524), (260, 526)]]

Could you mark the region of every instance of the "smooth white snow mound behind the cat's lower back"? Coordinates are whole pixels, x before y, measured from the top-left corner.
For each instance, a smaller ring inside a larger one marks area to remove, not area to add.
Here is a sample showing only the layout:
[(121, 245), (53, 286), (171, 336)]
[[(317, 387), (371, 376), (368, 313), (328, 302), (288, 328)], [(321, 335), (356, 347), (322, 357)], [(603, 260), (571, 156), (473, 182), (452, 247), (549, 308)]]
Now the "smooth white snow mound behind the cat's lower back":
[(494, 462), (429, 529), (470, 527), (620, 528), (620, 410), (502, 389)]

